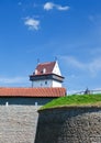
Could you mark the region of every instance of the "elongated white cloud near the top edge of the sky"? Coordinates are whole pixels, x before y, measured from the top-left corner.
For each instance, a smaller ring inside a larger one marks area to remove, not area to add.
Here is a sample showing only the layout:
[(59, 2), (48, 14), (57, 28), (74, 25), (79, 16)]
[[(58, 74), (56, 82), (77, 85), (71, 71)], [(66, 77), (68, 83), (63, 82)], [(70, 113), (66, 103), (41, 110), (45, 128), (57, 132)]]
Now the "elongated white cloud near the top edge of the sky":
[(52, 10), (52, 9), (54, 9), (54, 8), (57, 9), (57, 10), (59, 10), (59, 11), (69, 10), (69, 7), (68, 7), (68, 6), (63, 7), (63, 6), (60, 6), (60, 4), (55, 4), (55, 3), (53, 3), (53, 2), (46, 2), (46, 3), (44, 4), (44, 10), (49, 11), (49, 10)]

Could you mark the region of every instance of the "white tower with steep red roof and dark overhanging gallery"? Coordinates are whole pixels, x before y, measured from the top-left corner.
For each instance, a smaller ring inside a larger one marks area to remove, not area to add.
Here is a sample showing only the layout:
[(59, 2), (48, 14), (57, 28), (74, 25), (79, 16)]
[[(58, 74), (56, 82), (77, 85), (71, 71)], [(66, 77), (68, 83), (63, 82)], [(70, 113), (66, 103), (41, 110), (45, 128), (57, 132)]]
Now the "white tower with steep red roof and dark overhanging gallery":
[(37, 64), (33, 75), (30, 75), (32, 87), (61, 87), (64, 77), (57, 62)]

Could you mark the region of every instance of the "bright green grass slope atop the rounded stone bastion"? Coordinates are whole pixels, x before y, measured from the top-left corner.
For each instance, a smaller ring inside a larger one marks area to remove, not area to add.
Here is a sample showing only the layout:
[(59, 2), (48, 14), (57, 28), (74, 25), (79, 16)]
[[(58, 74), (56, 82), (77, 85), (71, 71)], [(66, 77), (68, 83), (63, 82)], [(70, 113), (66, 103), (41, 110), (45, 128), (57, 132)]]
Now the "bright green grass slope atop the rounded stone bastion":
[(72, 95), (52, 100), (41, 108), (101, 106), (101, 95)]

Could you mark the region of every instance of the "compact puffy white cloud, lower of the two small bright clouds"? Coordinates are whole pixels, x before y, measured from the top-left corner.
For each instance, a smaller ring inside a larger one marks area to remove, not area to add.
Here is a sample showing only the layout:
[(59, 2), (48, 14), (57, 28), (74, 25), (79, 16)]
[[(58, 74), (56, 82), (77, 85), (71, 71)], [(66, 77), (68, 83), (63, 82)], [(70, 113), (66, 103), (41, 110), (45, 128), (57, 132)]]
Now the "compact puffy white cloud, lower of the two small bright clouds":
[(35, 20), (33, 18), (25, 18), (24, 24), (29, 26), (29, 30), (40, 29), (40, 20)]

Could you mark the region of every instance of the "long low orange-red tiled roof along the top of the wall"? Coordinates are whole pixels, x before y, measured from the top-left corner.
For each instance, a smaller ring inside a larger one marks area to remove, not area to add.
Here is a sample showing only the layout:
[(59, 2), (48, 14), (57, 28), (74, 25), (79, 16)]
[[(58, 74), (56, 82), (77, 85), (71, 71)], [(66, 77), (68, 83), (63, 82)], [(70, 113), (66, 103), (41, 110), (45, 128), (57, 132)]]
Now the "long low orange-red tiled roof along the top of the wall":
[(0, 97), (64, 97), (65, 88), (0, 88)]

